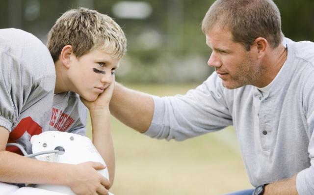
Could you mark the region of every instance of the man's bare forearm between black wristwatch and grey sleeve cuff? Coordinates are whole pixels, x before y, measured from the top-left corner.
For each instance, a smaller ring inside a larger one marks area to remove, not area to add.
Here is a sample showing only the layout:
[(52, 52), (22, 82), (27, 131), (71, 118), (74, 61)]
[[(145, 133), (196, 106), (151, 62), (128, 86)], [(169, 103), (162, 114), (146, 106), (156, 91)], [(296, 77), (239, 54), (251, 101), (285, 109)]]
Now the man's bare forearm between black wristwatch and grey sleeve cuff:
[(297, 174), (266, 185), (263, 195), (299, 195), (296, 190), (296, 176)]

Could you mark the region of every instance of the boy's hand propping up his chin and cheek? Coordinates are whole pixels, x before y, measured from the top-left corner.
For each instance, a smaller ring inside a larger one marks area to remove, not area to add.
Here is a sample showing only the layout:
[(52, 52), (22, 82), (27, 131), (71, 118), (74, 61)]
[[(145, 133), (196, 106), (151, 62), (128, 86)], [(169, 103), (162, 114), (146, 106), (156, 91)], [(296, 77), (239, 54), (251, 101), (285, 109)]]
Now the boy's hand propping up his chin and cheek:
[(89, 111), (109, 109), (109, 103), (112, 97), (114, 83), (115, 83), (115, 77), (113, 76), (112, 83), (105, 89), (103, 93), (99, 94), (98, 98), (94, 102), (88, 102), (81, 96), (80, 96), (80, 100), (88, 108)]

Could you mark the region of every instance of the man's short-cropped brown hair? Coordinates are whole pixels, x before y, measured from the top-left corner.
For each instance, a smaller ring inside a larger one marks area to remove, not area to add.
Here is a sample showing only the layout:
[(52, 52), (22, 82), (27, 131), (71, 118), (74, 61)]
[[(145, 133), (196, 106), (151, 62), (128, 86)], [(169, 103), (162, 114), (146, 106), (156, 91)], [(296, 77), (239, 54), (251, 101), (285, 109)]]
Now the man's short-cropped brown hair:
[(212, 28), (230, 30), (234, 41), (247, 51), (258, 37), (277, 48), (284, 36), (280, 12), (272, 0), (216, 0), (202, 22), (204, 33)]

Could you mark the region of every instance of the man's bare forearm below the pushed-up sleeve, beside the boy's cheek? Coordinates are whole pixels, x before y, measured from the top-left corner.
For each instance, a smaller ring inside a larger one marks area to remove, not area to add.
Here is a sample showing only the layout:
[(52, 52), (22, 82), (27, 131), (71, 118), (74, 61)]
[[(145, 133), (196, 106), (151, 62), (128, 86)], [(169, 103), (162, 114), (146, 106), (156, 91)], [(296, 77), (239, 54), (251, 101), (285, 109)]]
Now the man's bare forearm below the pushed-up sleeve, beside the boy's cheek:
[(153, 119), (154, 100), (148, 94), (115, 83), (109, 108), (112, 115), (124, 124), (145, 133)]

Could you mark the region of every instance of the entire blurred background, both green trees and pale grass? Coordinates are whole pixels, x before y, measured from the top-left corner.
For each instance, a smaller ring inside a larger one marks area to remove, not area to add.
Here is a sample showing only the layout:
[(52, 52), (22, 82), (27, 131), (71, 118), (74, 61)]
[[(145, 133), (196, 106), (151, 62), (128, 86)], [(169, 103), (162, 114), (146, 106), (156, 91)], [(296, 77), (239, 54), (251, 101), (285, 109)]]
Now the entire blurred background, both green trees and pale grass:
[[(274, 0), (284, 34), (314, 41), (314, 0)], [(55, 20), (79, 6), (115, 19), (128, 39), (116, 80), (165, 96), (184, 94), (211, 73), (201, 22), (213, 0), (0, 0), (0, 28), (21, 28), (43, 43)], [(112, 118), (116, 195), (219, 195), (252, 188), (233, 127), (185, 140), (154, 140)], [(91, 135), (90, 122), (88, 135)]]

